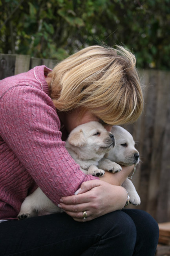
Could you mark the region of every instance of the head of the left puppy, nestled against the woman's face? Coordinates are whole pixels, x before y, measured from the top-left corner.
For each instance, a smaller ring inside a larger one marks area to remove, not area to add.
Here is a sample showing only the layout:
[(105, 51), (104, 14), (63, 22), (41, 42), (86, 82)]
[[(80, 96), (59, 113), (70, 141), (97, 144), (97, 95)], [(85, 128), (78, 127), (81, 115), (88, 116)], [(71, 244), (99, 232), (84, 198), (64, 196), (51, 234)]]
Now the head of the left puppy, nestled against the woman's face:
[(66, 141), (66, 147), (71, 147), (84, 159), (102, 158), (114, 145), (113, 134), (107, 132), (102, 124), (96, 121), (77, 126)]

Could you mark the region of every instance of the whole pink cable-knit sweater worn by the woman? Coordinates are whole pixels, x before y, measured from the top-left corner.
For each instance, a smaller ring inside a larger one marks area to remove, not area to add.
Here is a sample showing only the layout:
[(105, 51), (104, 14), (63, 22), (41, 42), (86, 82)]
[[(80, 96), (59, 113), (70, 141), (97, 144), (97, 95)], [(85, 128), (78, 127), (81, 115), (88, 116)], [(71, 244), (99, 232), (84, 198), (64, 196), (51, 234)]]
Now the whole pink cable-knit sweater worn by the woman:
[(85, 175), (61, 140), (45, 66), (0, 81), (0, 219), (15, 219), (37, 186), (55, 203), (73, 195)]

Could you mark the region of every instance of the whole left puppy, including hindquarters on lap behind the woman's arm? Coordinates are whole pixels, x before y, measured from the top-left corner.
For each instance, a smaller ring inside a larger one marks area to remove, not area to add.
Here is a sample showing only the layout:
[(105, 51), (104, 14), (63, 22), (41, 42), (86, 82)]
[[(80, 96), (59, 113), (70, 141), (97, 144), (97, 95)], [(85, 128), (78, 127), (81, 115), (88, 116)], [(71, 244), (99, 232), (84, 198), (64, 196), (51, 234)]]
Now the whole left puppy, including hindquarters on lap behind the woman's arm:
[[(115, 146), (111, 132), (107, 132), (99, 122), (88, 122), (77, 126), (66, 140), (66, 148), (72, 158), (80, 165), (85, 174), (104, 175), (104, 170), (98, 165), (104, 156)], [(121, 166), (115, 162), (107, 163), (105, 171), (119, 172)], [(21, 205), (18, 219), (26, 219), (37, 215), (62, 212), (38, 187), (26, 197)]]

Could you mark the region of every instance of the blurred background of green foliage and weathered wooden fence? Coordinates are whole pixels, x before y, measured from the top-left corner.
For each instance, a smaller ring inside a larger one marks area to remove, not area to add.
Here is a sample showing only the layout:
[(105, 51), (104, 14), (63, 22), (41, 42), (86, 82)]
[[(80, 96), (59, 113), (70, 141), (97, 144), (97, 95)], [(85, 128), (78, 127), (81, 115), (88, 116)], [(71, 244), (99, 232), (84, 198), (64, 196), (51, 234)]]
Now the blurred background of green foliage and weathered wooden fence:
[(96, 44), (136, 56), (144, 111), (124, 127), (141, 158), (137, 208), (170, 221), (170, 0), (0, 0), (0, 79)]

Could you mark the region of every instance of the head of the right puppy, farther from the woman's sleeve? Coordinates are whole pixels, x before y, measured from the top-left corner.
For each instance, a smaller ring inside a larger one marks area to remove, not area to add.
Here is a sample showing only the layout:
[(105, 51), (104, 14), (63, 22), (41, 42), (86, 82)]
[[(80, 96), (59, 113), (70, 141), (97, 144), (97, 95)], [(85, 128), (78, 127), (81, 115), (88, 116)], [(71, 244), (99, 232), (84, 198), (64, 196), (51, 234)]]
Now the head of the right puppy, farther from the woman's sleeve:
[(139, 163), (139, 152), (135, 148), (132, 135), (121, 126), (113, 126), (111, 131), (116, 140), (116, 146), (110, 150), (108, 158), (121, 165)]

